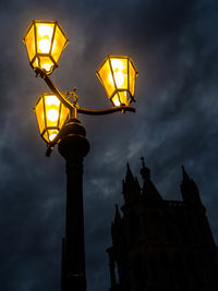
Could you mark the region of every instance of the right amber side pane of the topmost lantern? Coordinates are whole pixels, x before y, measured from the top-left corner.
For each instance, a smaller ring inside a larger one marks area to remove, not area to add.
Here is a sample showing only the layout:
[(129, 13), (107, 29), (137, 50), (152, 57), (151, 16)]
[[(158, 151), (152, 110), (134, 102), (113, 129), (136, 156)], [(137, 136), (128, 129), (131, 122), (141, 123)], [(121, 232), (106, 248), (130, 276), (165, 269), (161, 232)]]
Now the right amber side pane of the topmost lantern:
[(51, 56), (53, 57), (56, 62), (58, 62), (61, 56), (61, 52), (64, 49), (65, 43), (66, 43), (66, 38), (61, 32), (61, 29), (59, 28), (59, 26), (57, 25), (56, 35), (53, 38), (52, 51), (51, 51)]

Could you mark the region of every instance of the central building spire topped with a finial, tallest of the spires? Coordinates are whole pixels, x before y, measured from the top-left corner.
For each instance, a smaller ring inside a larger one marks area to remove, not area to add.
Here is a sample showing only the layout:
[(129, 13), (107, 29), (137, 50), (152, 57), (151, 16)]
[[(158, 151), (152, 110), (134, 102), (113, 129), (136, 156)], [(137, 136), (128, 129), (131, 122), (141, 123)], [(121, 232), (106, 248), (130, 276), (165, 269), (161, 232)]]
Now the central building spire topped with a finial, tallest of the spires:
[(147, 201), (160, 202), (162, 201), (162, 197), (160, 196), (159, 192), (157, 191), (156, 186), (150, 180), (150, 170), (147, 167), (145, 167), (144, 157), (142, 157), (141, 159), (142, 159), (141, 174), (144, 180), (142, 197), (146, 202)]

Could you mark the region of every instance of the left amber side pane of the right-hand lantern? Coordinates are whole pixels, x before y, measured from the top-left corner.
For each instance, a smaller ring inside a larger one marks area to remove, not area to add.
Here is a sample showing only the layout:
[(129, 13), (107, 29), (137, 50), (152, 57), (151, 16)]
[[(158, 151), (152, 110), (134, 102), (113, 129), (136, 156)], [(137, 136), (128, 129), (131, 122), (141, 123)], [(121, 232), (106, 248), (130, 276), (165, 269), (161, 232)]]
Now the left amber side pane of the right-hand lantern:
[(113, 77), (111, 74), (109, 60), (107, 60), (104, 63), (104, 65), (99, 70), (98, 74), (101, 78), (101, 82), (102, 82), (105, 88), (106, 88), (108, 97), (110, 97), (113, 94), (116, 86), (114, 86)]

